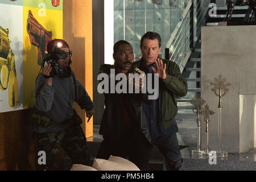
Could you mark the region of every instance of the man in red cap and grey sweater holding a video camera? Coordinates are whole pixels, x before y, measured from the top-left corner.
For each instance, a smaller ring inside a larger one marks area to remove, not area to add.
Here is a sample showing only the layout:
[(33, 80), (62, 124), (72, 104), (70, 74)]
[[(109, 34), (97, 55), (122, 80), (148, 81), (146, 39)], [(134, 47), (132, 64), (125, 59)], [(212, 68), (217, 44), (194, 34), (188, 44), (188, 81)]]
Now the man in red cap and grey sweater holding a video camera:
[(90, 164), (86, 138), (81, 129), (82, 119), (73, 109), (76, 101), (85, 109), (86, 117), (92, 117), (94, 105), (84, 86), (76, 79), (69, 67), (72, 53), (67, 42), (51, 40), (47, 44), (47, 59), (42, 63), (42, 73), (35, 84), (35, 112), (33, 124), (37, 152), (46, 152), (46, 170), (57, 168), (60, 146), (72, 159), (73, 164)]

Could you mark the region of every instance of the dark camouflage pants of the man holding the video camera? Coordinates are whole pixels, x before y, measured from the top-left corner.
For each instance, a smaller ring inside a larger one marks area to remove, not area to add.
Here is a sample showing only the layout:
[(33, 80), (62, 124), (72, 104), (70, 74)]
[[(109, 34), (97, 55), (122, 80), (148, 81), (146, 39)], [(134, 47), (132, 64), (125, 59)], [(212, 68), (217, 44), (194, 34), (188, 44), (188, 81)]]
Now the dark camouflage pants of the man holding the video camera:
[(57, 169), (57, 156), (60, 146), (72, 159), (73, 164), (90, 165), (86, 138), (80, 126), (73, 126), (57, 133), (36, 133), (35, 135), (37, 154), (39, 151), (46, 152), (46, 164), (41, 164), (39, 166), (41, 169)]

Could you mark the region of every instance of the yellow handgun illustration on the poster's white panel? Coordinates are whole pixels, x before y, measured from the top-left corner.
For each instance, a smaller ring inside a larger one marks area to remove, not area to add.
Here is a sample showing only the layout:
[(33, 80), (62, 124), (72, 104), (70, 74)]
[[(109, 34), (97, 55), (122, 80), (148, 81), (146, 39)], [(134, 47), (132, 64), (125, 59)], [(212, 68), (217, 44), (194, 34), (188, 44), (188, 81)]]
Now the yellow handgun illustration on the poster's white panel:
[(9, 86), (9, 106), (14, 108), (18, 105), (19, 90), (18, 78), (15, 69), (15, 56), (10, 47), (9, 29), (0, 26), (0, 89), (6, 90)]

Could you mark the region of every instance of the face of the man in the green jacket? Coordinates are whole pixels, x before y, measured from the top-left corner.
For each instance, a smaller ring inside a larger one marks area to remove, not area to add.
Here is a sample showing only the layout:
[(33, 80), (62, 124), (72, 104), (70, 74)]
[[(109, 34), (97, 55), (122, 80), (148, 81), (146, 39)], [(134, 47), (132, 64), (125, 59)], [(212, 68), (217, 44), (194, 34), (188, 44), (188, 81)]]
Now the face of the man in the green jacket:
[(144, 39), (141, 46), (141, 53), (143, 56), (143, 61), (149, 67), (151, 64), (155, 63), (162, 47), (158, 46), (158, 39)]

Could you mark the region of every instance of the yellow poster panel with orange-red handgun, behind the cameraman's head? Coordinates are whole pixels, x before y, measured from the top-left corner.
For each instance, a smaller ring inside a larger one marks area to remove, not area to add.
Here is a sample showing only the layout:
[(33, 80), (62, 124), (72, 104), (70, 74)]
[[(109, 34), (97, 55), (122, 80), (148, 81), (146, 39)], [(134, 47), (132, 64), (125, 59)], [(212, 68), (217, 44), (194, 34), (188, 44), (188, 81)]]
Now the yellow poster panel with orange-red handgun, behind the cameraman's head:
[(34, 107), (35, 80), (47, 43), (62, 37), (63, 11), (27, 7), (23, 2), (23, 109)]

